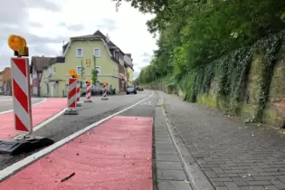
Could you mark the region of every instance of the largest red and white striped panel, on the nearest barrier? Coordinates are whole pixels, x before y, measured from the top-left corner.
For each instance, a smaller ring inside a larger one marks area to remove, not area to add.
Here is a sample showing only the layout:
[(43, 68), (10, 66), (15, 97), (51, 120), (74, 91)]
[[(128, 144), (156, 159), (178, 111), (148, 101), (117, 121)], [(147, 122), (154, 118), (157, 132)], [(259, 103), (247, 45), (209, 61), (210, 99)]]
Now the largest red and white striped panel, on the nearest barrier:
[(11, 59), (14, 127), (18, 131), (33, 132), (31, 87), (28, 58)]

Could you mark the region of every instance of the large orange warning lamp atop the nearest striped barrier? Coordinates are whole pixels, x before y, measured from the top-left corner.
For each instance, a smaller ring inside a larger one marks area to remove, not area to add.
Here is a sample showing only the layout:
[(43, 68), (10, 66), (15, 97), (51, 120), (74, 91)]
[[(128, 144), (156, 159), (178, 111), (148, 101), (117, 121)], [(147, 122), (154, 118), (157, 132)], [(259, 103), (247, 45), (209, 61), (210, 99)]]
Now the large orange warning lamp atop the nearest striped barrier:
[(8, 38), (8, 45), (14, 51), (14, 55), (18, 57), (29, 56), (29, 49), (27, 43), (22, 36), (10, 35)]

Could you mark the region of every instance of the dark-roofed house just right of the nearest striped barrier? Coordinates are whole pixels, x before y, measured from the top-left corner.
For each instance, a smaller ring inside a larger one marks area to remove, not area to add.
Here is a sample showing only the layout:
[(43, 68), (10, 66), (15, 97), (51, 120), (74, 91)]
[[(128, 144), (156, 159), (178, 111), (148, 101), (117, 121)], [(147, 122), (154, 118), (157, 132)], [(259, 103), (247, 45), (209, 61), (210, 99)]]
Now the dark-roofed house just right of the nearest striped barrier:
[(30, 73), (32, 75), (32, 95), (41, 96), (41, 79), (43, 68), (49, 65), (51, 57), (33, 56), (30, 66)]

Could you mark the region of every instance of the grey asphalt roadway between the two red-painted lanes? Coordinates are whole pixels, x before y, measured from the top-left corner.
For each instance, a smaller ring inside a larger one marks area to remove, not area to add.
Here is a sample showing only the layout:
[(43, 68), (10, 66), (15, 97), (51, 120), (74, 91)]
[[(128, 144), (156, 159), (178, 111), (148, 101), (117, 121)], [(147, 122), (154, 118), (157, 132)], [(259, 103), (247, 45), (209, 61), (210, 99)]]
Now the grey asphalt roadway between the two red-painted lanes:
[[(77, 108), (79, 115), (62, 115), (57, 119), (52, 120), (43, 128), (34, 131), (33, 135), (52, 138), (54, 141), (59, 141), (100, 119), (104, 119), (119, 110), (126, 109), (138, 101), (146, 99), (151, 94), (153, 94), (153, 96), (148, 100), (141, 102), (136, 107), (128, 109), (119, 115), (154, 117), (158, 100), (158, 94), (155, 91), (145, 90), (139, 91), (136, 95), (110, 96), (109, 100), (100, 100), (100, 97), (94, 97), (92, 98), (92, 103), (84, 103), (82, 104), (82, 107)], [(11, 166), (24, 157), (32, 155), (36, 151), (14, 157), (0, 155), (0, 170), (4, 169), (6, 166)]]

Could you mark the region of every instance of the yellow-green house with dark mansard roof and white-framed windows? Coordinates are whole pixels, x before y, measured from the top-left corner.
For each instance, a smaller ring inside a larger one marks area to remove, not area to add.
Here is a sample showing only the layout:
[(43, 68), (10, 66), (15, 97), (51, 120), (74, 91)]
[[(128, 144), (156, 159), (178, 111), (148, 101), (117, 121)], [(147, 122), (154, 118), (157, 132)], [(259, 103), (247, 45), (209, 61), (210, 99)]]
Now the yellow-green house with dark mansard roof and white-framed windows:
[[(81, 75), (81, 89), (91, 79), (91, 71), (98, 71), (96, 85), (107, 82), (117, 92), (126, 90), (128, 67), (126, 53), (100, 31), (91, 35), (71, 37), (62, 47), (62, 56), (51, 59), (43, 69), (41, 94), (62, 97), (67, 95), (69, 71), (74, 69)], [(52, 88), (51, 88), (52, 87)]]

